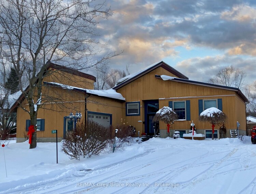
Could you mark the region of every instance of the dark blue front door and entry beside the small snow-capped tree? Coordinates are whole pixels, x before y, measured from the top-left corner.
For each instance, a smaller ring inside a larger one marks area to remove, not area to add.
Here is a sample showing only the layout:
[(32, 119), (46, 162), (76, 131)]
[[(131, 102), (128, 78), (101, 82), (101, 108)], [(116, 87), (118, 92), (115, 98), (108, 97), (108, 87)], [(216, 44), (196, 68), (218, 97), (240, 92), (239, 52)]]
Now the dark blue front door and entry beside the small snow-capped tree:
[[(154, 135), (154, 127), (157, 133), (159, 133), (159, 122), (153, 123), (153, 118), (156, 112), (159, 110), (158, 100), (144, 101), (145, 103), (145, 133), (147, 135)], [(158, 132), (157, 132), (158, 131)]]

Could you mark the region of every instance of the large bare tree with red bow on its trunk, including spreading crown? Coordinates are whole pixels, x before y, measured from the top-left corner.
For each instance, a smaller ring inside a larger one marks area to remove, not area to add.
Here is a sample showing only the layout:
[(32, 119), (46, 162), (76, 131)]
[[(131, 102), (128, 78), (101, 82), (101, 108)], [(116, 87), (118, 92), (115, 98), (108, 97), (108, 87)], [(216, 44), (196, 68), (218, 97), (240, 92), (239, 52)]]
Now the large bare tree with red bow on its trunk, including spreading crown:
[[(51, 61), (79, 70), (107, 63), (111, 56), (98, 56), (94, 32), (112, 12), (94, 0), (5, 0), (0, 4), (0, 58), (14, 67), (19, 89), (28, 101), (28, 109), (23, 109), (35, 126), (38, 110), (47, 100), (42, 96), (42, 80)], [(36, 137), (35, 131), (30, 148), (36, 147)]]

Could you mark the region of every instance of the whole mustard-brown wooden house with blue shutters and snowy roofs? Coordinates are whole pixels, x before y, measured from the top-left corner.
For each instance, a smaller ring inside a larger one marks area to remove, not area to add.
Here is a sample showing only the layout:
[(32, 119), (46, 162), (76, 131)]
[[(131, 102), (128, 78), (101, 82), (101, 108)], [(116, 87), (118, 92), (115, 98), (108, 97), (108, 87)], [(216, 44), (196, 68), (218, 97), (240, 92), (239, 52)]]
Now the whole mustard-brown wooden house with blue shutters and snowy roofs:
[[(68, 118), (70, 111), (85, 113), (85, 96), (87, 100), (86, 117), (104, 126), (117, 124), (133, 125), (140, 133), (154, 134), (159, 129), (160, 137), (167, 137), (166, 124), (152, 123), (155, 113), (163, 106), (169, 106), (179, 115), (179, 119), (172, 124), (171, 135), (174, 130), (180, 135), (188, 133), (192, 120), (197, 128), (197, 133), (211, 137), (211, 124), (198, 121), (199, 114), (209, 108), (216, 107), (228, 116), (225, 123), (227, 130), (236, 129), (237, 121), (240, 130), (246, 130), (245, 103), (246, 97), (238, 88), (214, 85), (188, 80), (188, 77), (173, 69), (163, 61), (128, 75), (110, 90), (93, 90), (95, 77), (75, 70), (65, 72), (68, 77), (80, 77), (81, 84), (72, 81), (56, 83), (53, 78), (45, 78), (43, 84), (54, 95), (66, 99), (59, 104), (48, 102), (47, 109), (38, 112), (40, 130), (37, 133), (38, 142), (54, 141), (51, 130), (58, 129), (59, 141), (65, 134), (72, 130), (73, 124)], [(86, 84), (83, 84), (85, 82)], [(22, 101), (22, 96), (19, 98)], [(22, 103), (25, 103), (23, 101)], [(65, 107), (60, 108), (61, 104)], [(16, 107), (14, 105), (13, 107)], [(61, 111), (59, 111), (61, 109)], [(57, 110), (57, 111), (55, 111)], [(17, 142), (24, 141), (24, 131), (29, 126), (29, 115), (21, 108), (17, 108)], [(218, 126), (215, 127), (215, 136), (219, 138)], [(60, 131), (60, 132), (59, 132)], [(227, 132), (227, 137), (230, 137)]]

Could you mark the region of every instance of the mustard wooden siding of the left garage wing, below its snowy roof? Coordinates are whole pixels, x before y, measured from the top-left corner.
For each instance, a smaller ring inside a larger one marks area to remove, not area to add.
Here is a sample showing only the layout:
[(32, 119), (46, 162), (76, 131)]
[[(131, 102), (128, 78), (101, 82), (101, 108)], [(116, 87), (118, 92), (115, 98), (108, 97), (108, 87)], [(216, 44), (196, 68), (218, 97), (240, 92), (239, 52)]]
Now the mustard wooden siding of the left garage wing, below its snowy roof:
[[(37, 131), (37, 137), (39, 138), (54, 138), (55, 134), (52, 134), (53, 129), (58, 130), (58, 137), (63, 137), (63, 123), (64, 117), (69, 116), (72, 111), (73, 114), (76, 110), (82, 113), (82, 120), (84, 119), (84, 93), (63, 90), (61, 88), (54, 88), (59, 91), (61, 95), (65, 96), (67, 102), (61, 103), (48, 103), (44, 105), (44, 108), (38, 110), (38, 119), (45, 119), (45, 130)], [(24, 105), (26, 102), (23, 102)], [(28, 108), (28, 106), (27, 106)], [(122, 118), (122, 102), (115, 99), (106, 99), (99, 96), (90, 95), (87, 98), (88, 111), (109, 113), (112, 114), (112, 125), (120, 124)], [(24, 112), (20, 107), (17, 108), (17, 138), (23, 138), (26, 132), (26, 120), (30, 119), (29, 114)]]

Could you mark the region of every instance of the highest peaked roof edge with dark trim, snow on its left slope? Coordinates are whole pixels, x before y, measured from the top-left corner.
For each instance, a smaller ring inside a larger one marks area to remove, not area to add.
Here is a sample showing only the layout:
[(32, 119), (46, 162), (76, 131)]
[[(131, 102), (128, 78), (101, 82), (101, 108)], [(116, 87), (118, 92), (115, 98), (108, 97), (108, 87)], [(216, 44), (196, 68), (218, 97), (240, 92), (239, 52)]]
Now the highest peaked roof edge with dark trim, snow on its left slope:
[(154, 69), (158, 68), (158, 67), (162, 67), (163, 69), (169, 71), (170, 73), (176, 75), (179, 78), (182, 79), (186, 79), (188, 80), (188, 77), (183, 75), (181, 72), (177, 71), (176, 69), (172, 68), (171, 66), (169, 66), (167, 63), (160, 61), (157, 63), (154, 63), (148, 67), (146, 67), (145, 69), (142, 69), (136, 73), (133, 73), (131, 75), (127, 75), (126, 77), (123, 77), (122, 79), (118, 80), (117, 85), (115, 87), (113, 87), (113, 89), (119, 89), (129, 83), (131, 83), (134, 80), (137, 80), (138, 78), (140, 78), (141, 76), (153, 71)]

